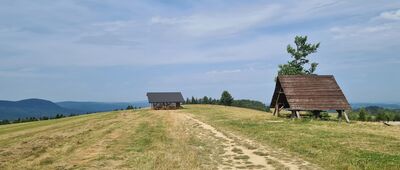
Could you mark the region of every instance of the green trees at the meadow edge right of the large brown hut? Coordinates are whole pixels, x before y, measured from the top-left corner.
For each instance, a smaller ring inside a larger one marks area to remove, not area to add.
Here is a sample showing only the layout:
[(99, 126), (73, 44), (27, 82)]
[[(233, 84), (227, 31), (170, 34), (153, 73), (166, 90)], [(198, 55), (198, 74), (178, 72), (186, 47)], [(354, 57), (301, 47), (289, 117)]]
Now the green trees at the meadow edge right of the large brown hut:
[(349, 113), (349, 118), (359, 121), (400, 121), (400, 110), (368, 106), (353, 110)]

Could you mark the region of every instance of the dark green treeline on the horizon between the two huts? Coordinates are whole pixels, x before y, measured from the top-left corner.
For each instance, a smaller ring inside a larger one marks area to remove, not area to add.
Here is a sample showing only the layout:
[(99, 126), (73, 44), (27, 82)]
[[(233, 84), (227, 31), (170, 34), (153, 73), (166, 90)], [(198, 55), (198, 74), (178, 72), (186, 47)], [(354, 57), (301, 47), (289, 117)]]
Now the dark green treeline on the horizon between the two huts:
[(196, 98), (192, 96), (192, 98), (186, 98), (185, 104), (215, 104), (269, 111), (269, 107), (260, 101), (247, 99), (235, 100), (228, 91), (222, 92), (220, 99), (215, 99), (208, 96), (204, 96), (202, 98)]

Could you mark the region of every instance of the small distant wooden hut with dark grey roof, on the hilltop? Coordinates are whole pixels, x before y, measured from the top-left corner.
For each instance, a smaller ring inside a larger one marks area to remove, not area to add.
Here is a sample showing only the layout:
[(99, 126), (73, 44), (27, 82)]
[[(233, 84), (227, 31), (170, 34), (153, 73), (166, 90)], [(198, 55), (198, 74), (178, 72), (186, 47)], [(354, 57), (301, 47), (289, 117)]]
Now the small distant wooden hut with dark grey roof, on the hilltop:
[(147, 98), (152, 109), (178, 109), (185, 102), (181, 92), (149, 92)]

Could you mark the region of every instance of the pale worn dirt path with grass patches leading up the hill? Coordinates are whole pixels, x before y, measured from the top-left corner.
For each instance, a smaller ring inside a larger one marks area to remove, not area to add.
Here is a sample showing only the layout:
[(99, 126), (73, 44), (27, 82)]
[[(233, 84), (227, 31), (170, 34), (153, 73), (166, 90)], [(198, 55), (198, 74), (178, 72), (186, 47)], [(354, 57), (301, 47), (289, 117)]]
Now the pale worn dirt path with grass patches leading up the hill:
[(180, 114), (197, 128), (200, 138), (212, 139), (223, 149), (218, 155), (218, 169), (319, 169), (304, 160), (293, 158), (283, 151), (262, 146), (242, 137), (223, 133), (213, 126), (195, 119), (190, 114)]

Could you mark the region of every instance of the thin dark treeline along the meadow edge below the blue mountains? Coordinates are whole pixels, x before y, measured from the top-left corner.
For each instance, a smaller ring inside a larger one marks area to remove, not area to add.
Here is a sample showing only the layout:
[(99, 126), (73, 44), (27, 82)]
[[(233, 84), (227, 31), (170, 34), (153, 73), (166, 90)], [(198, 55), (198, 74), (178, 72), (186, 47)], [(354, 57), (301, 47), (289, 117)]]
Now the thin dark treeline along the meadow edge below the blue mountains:
[[(135, 110), (135, 109), (141, 109), (141, 107), (133, 107), (132, 105), (129, 105), (125, 110)], [(114, 109), (114, 111), (118, 110), (124, 110), (124, 109)], [(86, 114), (91, 114), (91, 112), (88, 112)], [(64, 117), (72, 117), (72, 116), (78, 116), (82, 114), (69, 114), (69, 115), (64, 115), (64, 114), (57, 114), (54, 117), (49, 117), (49, 116), (42, 116), (42, 117), (26, 117), (26, 118), (18, 118), (16, 120), (0, 120), (0, 125), (5, 125), (5, 124), (12, 124), (12, 123), (25, 123), (25, 122), (34, 122), (34, 121), (40, 121), (40, 120), (50, 120), (50, 119), (60, 119)]]

